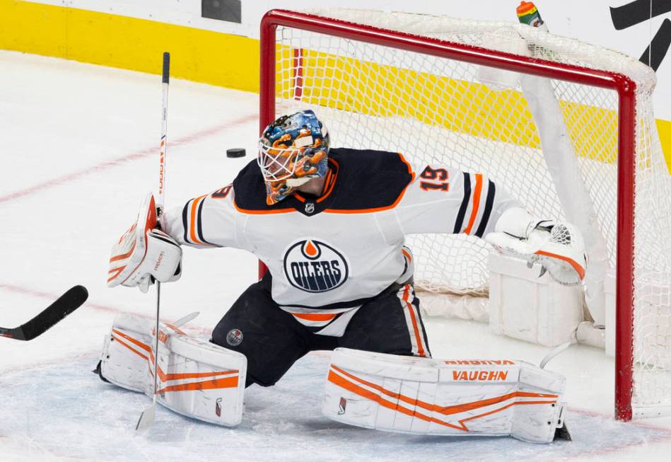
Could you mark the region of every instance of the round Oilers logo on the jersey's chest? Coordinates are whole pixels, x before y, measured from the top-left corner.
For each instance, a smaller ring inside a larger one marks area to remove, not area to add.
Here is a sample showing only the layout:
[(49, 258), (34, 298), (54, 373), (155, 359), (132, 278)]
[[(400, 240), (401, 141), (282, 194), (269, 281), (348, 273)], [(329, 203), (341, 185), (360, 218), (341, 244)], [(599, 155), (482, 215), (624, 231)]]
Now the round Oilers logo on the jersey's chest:
[(284, 275), (306, 292), (325, 292), (342, 286), (349, 276), (347, 262), (338, 250), (322, 241), (304, 239), (284, 253)]

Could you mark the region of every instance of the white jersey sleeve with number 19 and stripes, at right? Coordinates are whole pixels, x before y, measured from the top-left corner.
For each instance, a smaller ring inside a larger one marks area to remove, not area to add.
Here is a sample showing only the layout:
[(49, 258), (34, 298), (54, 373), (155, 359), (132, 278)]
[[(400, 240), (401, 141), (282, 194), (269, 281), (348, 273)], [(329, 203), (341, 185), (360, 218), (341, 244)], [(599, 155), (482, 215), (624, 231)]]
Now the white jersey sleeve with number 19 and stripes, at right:
[(484, 237), (510, 207), (522, 207), (482, 173), (421, 166), (395, 213), (404, 234), (466, 233)]

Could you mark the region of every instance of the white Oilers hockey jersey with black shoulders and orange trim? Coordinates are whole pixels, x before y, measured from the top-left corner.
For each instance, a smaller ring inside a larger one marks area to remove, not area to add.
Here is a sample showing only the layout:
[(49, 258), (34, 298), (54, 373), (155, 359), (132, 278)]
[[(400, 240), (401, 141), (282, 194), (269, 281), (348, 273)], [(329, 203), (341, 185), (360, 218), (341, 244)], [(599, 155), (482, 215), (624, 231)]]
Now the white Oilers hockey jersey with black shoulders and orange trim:
[(331, 149), (321, 197), (266, 204), (250, 162), (232, 185), (163, 215), (163, 230), (197, 248), (249, 250), (272, 275), (272, 298), (315, 333), (342, 335), (362, 304), (411, 276), (412, 233), (482, 237), (520, 204), (480, 173), (415, 169), (402, 154)]

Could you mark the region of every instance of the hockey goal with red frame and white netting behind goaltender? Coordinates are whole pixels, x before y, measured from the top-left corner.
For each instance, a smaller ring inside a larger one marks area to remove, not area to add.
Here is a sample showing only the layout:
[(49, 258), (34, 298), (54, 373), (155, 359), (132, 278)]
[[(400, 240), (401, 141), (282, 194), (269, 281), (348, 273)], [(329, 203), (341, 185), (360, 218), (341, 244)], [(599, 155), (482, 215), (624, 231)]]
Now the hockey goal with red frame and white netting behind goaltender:
[[(671, 185), (651, 69), (528, 25), (341, 9), (269, 11), (260, 72), (261, 129), (312, 108), (332, 146), (486, 173), (537, 216), (577, 222), (602, 273), (593, 298), (603, 273), (616, 281), (615, 415), (671, 413)], [(487, 294), (484, 241), (407, 241), (417, 286)]]

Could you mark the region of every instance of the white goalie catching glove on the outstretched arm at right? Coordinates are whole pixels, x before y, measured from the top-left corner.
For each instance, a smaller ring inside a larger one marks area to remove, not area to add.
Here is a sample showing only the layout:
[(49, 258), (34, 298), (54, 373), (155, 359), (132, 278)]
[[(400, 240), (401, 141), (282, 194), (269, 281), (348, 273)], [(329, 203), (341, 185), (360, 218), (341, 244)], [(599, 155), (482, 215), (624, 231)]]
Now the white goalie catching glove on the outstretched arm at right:
[(485, 236), (496, 250), (538, 262), (559, 284), (579, 284), (585, 277), (585, 243), (575, 226), (538, 219), (518, 207), (503, 212), (496, 231)]

